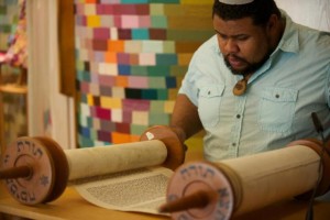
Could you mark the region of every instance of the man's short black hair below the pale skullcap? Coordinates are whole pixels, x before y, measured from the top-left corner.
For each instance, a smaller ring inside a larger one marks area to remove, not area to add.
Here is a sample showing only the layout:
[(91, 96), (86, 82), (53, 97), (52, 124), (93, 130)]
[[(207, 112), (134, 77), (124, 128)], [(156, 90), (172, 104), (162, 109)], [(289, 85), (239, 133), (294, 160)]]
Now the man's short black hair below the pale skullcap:
[(250, 16), (253, 24), (265, 25), (272, 14), (279, 18), (280, 11), (274, 0), (254, 0), (246, 4), (226, 4), (215, 0), (212, 16), (216, 14), (224, 21)]

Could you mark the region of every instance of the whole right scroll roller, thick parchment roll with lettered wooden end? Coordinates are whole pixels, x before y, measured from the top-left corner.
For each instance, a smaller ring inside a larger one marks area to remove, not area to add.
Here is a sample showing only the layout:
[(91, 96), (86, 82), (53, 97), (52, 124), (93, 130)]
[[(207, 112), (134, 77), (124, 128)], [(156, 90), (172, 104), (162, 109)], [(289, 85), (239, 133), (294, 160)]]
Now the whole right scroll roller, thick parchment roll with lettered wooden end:
[[(317, 196), (330, 186), (328, 150)], [(227, 220), (287, 198), (308, 198), (319, 177), (321, 152), (321, 143), (305, 140), (219, 163), (184, 164), (172, 176), (160, 211), (172, 212), (173, 219)]]

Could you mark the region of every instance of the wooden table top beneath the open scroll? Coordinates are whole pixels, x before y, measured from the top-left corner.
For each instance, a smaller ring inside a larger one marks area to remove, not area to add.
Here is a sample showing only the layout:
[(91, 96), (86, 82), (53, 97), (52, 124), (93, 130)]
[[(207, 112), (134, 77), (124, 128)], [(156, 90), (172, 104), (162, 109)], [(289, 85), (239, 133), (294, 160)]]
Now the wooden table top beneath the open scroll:
[[(196, 161), (200, 158), (200, 151), (191, 151), (187, 155), (187, 161)], [(328, 196), (329, 195), (329, 196)], [(316, 220), (330, 219), (330, 194), (322, 200), (316, 200), (314, 205), (314, 212)], [(304, 220), (307, 209), (307, 201), (298, 201), (295, 199), (280, 201), (270, 207), (258, 209), (239, 217), (235, 220)], [(10, 197), (4, 189), (4, 185), (0, 184), (0, 212), (9, 213), (19, 217), (40, 220), (59, 220), (59, 219), (79, 219), (79, 220), (155, 220), (155, 219), (169, 219), (169, 217), (138, 213), (138, 212), (123, 212), (109, 210), (89, 204), (73, 188), (67, 187), (64, 194), (50, 204), (25, 206), (19, 204)]]

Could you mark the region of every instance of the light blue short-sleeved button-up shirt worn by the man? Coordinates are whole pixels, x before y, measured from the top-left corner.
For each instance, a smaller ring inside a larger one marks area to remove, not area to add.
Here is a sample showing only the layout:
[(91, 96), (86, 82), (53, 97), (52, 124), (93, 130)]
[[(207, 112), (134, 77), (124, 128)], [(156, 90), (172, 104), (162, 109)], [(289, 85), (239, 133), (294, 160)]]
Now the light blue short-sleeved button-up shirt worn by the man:
[(311, 112), (330, 134), (330, 34), (286, 20), (270, 59), (252, 75), (243, 96), (232, 89), (242, 76), (226, 66), (217, 36), (194, 54), (179, 94), (198, 107), (205, 157), (232, 158), (319, 138)]

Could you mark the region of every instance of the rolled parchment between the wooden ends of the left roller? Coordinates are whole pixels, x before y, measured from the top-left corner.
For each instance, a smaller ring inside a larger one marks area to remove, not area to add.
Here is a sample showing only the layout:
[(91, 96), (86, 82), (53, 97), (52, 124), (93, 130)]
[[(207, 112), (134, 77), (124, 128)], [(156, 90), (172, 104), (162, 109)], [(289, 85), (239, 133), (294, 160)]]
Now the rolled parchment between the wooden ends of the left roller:
[(95, 146), (65, 151), (69, 180), (161, 165), (167, 157), (162, 141)]

